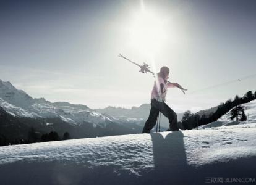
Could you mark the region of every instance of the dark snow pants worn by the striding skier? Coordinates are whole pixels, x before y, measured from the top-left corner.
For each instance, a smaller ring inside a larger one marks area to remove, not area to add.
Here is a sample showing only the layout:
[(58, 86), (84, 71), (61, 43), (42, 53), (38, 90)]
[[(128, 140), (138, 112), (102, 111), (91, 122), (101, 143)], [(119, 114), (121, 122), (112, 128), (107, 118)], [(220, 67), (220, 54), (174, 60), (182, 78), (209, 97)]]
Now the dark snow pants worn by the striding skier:
[(158, 102), (156, 99), (151, 99), (151, 109), (148, 120), (145, 123), (142, 133), (150, 133), (150, 130), (156, 125), (156, 120), (159, 111), (169, 119), (169, 128), (171, 131), (179, 130), (177, 128), (177, 114), (164, 102)]

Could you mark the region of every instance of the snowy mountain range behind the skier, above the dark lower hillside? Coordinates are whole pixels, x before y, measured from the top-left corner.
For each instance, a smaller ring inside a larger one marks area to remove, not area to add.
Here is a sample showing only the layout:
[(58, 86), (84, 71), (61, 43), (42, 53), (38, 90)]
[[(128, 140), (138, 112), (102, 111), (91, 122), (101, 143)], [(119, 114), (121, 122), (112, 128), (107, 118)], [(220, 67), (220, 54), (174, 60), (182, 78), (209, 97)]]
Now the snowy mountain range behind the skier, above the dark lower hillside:
[[(150, 104), (124, 109), (107, 107), (90, 109), (86, 105), (70, 104), (69, 102), (49, 102), (44, 98), (32, 98), (26, 92), (16, 89), (9, 81), (0, 80), (0, 106), (15, 117), (27, 118), (61, 118), (71, 125), (92, 124), (104, 128), (106, 123), (121, 125), (139, 125), (142, 127), (148, 118)], [(177, 114), (181, 120), (182, 114)], [(163, 129), (169, 128), (169, 121), (162, 117)]]

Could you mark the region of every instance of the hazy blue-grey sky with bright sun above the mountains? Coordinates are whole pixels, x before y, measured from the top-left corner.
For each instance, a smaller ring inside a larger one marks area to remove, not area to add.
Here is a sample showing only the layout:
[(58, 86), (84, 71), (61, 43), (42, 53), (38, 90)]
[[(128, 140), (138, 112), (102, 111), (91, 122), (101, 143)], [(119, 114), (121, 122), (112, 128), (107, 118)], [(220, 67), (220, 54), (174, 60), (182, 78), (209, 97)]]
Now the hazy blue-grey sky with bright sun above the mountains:
[(0, 79), (51, 102), (150, 103), (153, 76), (121, 53), (168, 66), (189, 91), (169, 89), (167, 104), (195, 112), (255, 92), (255, 17), (256, 1), (242, 0), (0, 0)]

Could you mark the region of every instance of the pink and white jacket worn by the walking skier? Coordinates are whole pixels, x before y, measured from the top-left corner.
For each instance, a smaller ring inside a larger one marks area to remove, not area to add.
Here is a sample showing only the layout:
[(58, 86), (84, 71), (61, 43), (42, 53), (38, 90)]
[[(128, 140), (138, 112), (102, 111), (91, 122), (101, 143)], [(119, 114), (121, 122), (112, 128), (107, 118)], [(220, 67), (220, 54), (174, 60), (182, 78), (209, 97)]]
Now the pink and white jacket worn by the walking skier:
[[(161, 86), (163, 87), (162, 89), (161, 89)], [(163, 78), (156, 77), (156, 80), (155, 80), (154, 86), (153, 86), (153, 90), (151, 92), (151, 99), (156, 99), (159, 102), (166, 101), (165, 97), (167, 94), (167, 89), (174, 88), (174, 87), (175, 87), (174, 84), (165, 83)]]

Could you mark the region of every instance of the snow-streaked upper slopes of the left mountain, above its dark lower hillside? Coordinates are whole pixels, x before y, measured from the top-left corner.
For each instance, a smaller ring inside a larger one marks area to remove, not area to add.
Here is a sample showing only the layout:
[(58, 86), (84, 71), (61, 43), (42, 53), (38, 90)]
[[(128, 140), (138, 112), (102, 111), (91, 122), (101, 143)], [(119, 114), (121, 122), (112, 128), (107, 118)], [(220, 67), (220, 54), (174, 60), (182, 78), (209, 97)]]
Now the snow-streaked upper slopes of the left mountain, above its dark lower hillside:
[(17, 117), (53, 118), (60, 117), (67, 123), (80, 125), (85, 122), (104, 126), (113, 118), (96, 112), (85, 105), (67, 102), (51, 103), (43, 98), (33, 99), (24, 91), (16, 89), (7, 81), (0, 80), (0, 106)]

